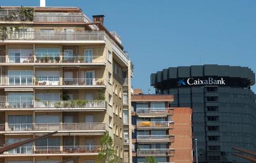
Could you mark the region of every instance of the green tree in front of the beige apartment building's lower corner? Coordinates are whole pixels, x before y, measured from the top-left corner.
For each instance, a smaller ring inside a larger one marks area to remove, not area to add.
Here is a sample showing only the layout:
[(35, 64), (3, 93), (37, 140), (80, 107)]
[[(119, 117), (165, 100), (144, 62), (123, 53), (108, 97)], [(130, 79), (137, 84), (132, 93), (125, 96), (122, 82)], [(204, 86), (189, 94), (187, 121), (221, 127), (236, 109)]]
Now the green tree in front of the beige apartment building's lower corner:
[(98, 154), (97, 163), (120, 163), (113, 146), (113, 139), (105, 132), (101, 138), (101, 149)]

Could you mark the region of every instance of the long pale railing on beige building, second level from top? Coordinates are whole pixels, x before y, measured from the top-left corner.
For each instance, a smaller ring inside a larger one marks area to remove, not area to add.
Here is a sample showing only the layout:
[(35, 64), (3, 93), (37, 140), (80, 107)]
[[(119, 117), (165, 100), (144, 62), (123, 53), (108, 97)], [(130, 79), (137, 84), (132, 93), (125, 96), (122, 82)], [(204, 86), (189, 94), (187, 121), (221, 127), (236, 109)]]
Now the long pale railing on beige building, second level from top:
[(6, 40), (105, 41), (104, 32), (7, 31)]

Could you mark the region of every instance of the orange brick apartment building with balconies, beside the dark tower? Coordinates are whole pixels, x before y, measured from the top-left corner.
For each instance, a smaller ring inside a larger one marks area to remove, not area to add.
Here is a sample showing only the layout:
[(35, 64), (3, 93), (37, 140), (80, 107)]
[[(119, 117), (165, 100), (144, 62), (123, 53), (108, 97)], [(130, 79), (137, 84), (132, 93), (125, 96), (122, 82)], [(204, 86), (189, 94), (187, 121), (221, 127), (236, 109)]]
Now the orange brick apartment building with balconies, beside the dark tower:
[(133, 162), (146, 162), (154, 156), (157, 162), (192, 163), (192, 111), (170, 108), (172, 102), (173, 95), (145, 95), (134, 90)]

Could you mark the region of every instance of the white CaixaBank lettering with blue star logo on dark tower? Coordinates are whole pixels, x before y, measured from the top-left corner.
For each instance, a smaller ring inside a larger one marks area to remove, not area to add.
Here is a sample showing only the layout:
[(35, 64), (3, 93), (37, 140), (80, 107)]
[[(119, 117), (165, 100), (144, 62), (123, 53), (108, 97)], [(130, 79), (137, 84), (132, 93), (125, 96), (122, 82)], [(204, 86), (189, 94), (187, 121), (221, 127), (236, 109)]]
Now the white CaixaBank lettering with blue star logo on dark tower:
[(181, 86), (198, 86), (198, 85), (226, 85), (226, 80), (224, 78), (186, 78), (178, 79), (177, 85)]

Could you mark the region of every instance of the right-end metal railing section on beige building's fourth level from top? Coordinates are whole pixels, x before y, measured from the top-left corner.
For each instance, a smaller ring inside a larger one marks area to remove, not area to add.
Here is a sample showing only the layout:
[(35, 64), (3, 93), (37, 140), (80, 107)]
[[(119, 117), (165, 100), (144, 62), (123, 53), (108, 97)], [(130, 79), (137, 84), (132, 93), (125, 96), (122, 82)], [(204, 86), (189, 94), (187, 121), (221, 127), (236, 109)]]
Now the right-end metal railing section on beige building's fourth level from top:
[(64, 78), (62, 81), (63, 85), (106, 85), (106, 81), (103, 79), (96, 78)]

